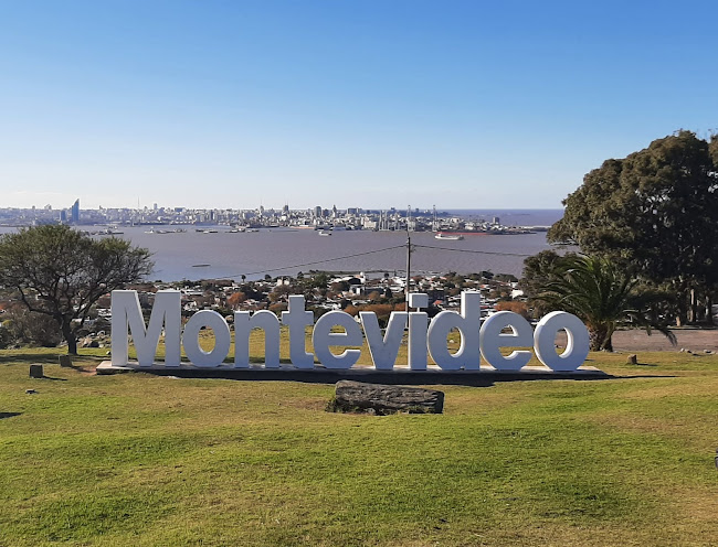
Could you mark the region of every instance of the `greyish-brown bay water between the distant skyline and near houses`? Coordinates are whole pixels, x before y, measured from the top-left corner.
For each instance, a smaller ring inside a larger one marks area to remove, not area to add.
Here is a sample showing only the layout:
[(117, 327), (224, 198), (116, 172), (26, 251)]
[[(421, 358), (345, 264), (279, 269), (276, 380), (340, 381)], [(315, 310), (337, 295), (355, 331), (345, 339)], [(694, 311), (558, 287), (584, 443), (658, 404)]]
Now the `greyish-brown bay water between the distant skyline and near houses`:
[[(463, 217), (500, 217), (504, 225), (547, 226), (562, 211), (461, 211)], [(173, 228), (173, 226), (156, 226)], [(151, 280), (260, 279), (315, 270), (374, 271), (393, 274), (406, 268), (405, 232), (335, 232), (320, 236), (313, 229), (263, 228), (254, 233), (230, 233), (228, 226), (205, 234), (184, 226), (179, 234), (146, 233), (149, 226), (122, 227), (134, 245), (152, 253)], [(92, 229), (83, 227), (82, 229)], [(7, 233), (12, 228), (1, 228)], [(475, 235), (463, 240), (439, 240), (429, 232), (411, 233), (412, 274), (456, 271), (520, 276), (526, 256), (550, 248), (546, 233), (527, 235)]]

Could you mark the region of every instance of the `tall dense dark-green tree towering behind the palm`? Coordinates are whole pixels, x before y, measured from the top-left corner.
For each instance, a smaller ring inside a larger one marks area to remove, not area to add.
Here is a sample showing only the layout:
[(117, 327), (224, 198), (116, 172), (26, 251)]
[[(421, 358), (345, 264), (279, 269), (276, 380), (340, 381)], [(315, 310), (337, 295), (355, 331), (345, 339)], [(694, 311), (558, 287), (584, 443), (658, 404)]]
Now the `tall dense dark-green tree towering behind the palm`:
[(552, 243), (631, 266), (676, 296), (677, 322), (695, 320), (696, 293), (718, 285), (718, 142), (690, 131), (655, 140), (588, 173), (564, 201)]

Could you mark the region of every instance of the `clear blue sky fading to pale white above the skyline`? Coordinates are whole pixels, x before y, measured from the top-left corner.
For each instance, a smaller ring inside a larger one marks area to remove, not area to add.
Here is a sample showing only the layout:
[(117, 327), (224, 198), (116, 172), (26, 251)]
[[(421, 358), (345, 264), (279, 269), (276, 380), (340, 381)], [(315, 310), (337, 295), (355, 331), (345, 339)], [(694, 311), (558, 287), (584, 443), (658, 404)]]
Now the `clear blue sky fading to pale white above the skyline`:
[(718, 127), (718, 2), (0, 0), (0, 206), (560, 207)]

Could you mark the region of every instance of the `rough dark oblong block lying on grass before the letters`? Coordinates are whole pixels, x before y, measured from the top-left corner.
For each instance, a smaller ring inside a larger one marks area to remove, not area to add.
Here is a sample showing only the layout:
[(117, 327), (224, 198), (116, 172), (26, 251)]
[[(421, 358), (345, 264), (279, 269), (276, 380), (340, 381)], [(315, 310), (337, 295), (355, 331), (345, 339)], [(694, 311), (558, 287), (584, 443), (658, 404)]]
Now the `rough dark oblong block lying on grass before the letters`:
[(378, 415), (441, 414), (444, 410), (444, 393), (342, 379), (336, 385), (334, 409), (345, 412), (373, 411)]

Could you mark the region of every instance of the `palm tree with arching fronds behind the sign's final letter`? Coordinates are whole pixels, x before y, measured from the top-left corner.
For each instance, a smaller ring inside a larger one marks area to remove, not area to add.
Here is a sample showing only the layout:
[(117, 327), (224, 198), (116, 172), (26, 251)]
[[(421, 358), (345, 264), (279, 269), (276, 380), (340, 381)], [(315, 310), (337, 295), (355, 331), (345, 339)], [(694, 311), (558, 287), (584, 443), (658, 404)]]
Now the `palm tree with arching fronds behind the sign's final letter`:
[(674, 334), (646, 312), (651, 294), (638, 280), (604, 257), (564, 257), (537, 299), (581, 319), (589, 330), (591, 351), (613, 351), (611, 337), (621, 323), (656, 329), (676, 343)]

